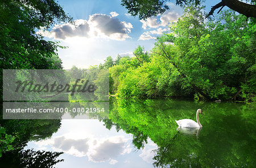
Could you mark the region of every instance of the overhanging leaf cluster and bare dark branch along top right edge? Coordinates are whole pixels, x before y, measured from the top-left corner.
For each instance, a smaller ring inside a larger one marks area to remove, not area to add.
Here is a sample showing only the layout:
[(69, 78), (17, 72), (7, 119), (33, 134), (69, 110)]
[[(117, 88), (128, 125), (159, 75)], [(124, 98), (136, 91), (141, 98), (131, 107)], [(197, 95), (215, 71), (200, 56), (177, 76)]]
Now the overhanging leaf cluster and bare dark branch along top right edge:
[[(151, 16), (156, 16), (158, 14), (163, 14), (164, 11), (168, 10), (169, 7), (164, 3), (167, 0), (144, 0), (144, 1), (135, 1), (135, 0), (122, 0), (121, 5), (125, 6), (128, 10), (128, 13), (132, 16), (139, 16), (139, 19), (147, 19)], [(169, 0), (170, 1), (170, 0)], [(224, 6), (229, 7), (230, 9), (239, 12), (247, 17), (256, 18), (256, 5), (255, 0), (251, 0), (250, 4), (238, 1), (238, 0), (220, 0), (221, 2), (212, 7), (209, 15), (213, 15), (214, 10)], [(247, 0), (248, 2), (249, 0)], [(187, 3), (195, 2), (195, 5), (199, 5), (203, 0), (176, 0), (176, 5), (184, 6)], [(221, 10), (220, 9), (220, 10)], [(218, 11), (220, 12), (220, 11)]]

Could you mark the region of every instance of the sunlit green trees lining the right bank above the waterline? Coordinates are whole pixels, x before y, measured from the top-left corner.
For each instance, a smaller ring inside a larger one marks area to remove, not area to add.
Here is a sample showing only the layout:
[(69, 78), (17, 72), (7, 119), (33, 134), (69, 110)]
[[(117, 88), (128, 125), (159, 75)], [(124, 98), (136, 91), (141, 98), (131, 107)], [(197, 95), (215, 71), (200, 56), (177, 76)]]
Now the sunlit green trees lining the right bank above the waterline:
[(226, 10), (205, 20), (202, 9), (185, 7), (151, 51), (138, 46), (133, 57), (109, 56), (90, 68), (109, 69), (110, 95), (120, 98), (255, 101), (255, 19)]

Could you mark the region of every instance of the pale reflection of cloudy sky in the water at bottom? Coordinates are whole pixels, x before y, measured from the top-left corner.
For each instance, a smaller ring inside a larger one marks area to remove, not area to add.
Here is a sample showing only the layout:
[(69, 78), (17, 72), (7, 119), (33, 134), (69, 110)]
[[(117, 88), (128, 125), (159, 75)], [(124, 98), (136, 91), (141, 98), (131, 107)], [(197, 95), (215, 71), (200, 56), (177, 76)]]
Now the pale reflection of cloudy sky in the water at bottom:
[[(132, 144), (133, 135), (113, 127), (105, 128), (98, 120), (62, 120), (61, 128), (51, 138), (28, 142), (26, 149), (64, 152), (64, 162), (56, 167), (153, 167), (151, 140), (143, 150)], [(46, 128), (47, 129), (47, 128)]]

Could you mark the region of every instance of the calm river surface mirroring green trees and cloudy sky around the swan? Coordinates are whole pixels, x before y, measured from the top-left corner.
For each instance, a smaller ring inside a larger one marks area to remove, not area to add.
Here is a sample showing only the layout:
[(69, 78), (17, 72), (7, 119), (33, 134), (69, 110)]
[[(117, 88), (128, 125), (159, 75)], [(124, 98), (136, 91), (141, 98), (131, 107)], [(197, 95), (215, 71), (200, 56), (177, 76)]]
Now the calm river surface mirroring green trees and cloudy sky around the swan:
[[(202, 129), (177, 129), (196, 120)], [(62, 120), (51, 138), (26, 149), (64, 152), (55, 167), (254, 167), (254, 104), (177, 99), (110, 101), (98, 120)]]

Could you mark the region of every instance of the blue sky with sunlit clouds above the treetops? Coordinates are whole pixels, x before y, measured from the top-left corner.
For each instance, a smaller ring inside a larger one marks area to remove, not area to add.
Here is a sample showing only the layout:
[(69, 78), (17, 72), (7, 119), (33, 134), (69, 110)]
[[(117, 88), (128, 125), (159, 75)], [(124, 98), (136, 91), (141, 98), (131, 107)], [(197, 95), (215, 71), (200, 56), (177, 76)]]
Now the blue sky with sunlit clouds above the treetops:
[[(118, 54), (133, 56), (138, 45), (150, 51), (156, 37), (168, 32), (168, 24), (176, 22), (183, 9), (168, 1), (170, 10), (163, 15), (139, 20), (127, 14), (121, 0), (60, 0), (58, 2), (69, 14), (75, 26), (59, 23), (51, 31), (39, 31), (46, 40), (60, 41), (67, 49), (59, 49), (64, 69), (89, 68), (90, 65), (104, 63), (106, 57), (113, 59)], [(206, 11), (218, 1), (207, 1)]]

